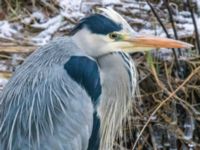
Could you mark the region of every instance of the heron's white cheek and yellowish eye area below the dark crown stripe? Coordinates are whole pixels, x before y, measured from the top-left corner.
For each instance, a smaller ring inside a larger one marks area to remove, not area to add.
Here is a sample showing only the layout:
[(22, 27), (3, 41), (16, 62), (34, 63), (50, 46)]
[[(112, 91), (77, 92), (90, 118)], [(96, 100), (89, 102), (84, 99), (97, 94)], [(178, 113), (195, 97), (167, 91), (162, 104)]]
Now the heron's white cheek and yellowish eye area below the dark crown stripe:
[(72, 39), (86, 54), (92, 57), (98, 57), (122, 50), (132, 52), (133, 44), (124, 40), (130, 36), (123, 30), (103, 35), (92, 33), (87, 28), (83, 28), (73, 35)]

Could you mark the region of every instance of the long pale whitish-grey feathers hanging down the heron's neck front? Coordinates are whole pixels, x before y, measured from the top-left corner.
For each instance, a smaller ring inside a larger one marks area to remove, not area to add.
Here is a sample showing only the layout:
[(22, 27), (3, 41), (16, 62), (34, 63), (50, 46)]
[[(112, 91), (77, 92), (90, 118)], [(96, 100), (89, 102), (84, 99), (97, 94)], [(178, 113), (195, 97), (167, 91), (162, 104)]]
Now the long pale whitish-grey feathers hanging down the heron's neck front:
[(98, 107), (100, 148), (111, 150), (123, 136), (123, 122), (131, 111), (136, 90), (136, 69), (131, 58), (113, 53), (98, 59), (102, 72), (102, 95)]

